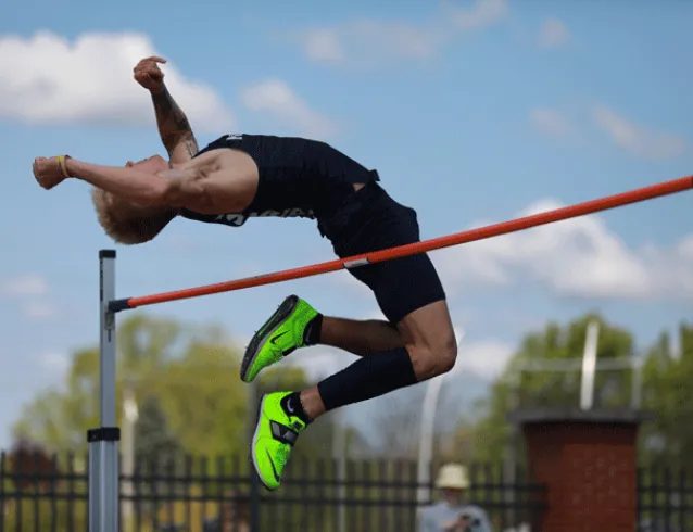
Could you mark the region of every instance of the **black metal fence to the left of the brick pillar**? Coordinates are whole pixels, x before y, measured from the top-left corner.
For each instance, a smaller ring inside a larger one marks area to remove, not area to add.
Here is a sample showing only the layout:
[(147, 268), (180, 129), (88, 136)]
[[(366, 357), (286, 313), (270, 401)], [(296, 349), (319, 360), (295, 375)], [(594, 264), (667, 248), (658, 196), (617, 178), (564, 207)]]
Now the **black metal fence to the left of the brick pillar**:
[[(87, 464), (2, 454), (0, 532), (86, 532)], [(250, 465), (239, 457), (138, 460), (135, 471), (121, 476), (123, 532), (250, 532), (253, 504), (263, 532), (414, 532), (418, 489), (431, 487), (417, 484), (416, 464), (406, 460), (292, 460), (272, 493), (251, 490)], [(495, 531), (538, 522), (540, 486), (494, 467), (472, 466), (470, 477), (469, 498)]]

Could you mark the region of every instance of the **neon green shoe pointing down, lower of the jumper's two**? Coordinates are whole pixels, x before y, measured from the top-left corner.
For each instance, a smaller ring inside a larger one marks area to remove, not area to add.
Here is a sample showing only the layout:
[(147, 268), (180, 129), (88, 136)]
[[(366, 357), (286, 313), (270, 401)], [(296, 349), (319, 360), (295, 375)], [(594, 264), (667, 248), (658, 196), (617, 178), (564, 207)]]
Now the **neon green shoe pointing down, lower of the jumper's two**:
[[(253, 435), (252, 458), (261, 482), (269, 491), (279, 489), (281, 473), (289, 461), (291, 449), (305, 423), (287, 414), (291, 405), (285, 397), (293, 392), (274, 392), (263, 396), (260, 417)], [(298, 406), (298, 405), (297, 405)]]

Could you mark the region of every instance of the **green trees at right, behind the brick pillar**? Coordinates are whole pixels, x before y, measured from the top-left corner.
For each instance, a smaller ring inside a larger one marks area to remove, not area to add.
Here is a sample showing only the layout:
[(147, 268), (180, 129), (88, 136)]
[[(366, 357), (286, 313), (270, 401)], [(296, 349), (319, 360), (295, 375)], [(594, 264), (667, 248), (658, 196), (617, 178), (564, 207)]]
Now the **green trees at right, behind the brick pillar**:
[[(600, 324), (597, 359), (628, 359), (642, 364), (640, 407), (651, 411), (655, 420), (641, 427), (642, 461), (689, 461), (693, 467), (693, 415), (690, 382), (693, 379), (693, 325), (679, 327), (678, 353), (668, 333), (646, 352), (637, 352), (630, 331), (607, 322), (598, 315), (585, 315), (566, 325), (547, 324), (543, 330), (525, 335), (505, 370), (493, 382), (486, 400), (477, 405), (477, 421), (459, 429), (457, 440), (474, 441), (472, 457), (480, 461), (500, 463), (513, 444), (507, 415), (529, 407), (579, 407), (580, 359), (590, 321)], [(532, 362), (569, 360), (570, 371), (519, 371)], [(630, 408), (633, 397), (633, 370), (603, 370), (595, 378), (595, 408)], [(520, 441), (521, 443), (521, 441)], [(518, 448), (520, 463), (524, 458)], [(691, 458), (689, 458), (691, 457)]]

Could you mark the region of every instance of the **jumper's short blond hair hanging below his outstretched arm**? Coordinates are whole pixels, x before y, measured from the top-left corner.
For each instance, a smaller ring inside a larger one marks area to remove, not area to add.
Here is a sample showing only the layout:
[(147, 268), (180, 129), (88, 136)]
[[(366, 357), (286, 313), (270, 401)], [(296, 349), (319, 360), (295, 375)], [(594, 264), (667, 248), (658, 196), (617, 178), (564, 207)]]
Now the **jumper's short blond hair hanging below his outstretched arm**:
[(149, 242), (177, 214), (169, 207), (136, 205), (99, 188), (91, 190), (91, 202), (105, 233), (116, 242), (128, 245)]

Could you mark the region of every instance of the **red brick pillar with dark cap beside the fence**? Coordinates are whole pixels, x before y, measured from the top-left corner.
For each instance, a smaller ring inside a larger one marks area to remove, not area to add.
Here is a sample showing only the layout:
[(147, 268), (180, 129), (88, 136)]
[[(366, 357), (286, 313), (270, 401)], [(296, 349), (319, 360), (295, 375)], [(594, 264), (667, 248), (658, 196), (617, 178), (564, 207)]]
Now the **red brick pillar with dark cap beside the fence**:
[(541, 532), (637, 530), (634, 411), (532, 410), (521, 427), (529, 477), (546, 487)]

